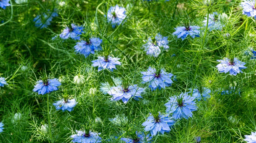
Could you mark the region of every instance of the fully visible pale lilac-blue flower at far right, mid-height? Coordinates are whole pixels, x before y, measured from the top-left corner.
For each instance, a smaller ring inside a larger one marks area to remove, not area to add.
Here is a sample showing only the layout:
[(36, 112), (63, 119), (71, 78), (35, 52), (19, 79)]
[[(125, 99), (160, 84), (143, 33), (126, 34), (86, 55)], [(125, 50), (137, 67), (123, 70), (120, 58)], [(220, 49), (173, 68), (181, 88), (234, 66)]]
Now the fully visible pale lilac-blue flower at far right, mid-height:
[(217, 60), (218, 62), (221, 62), (218, 64), (216, 67), (220, 71), (220, 73), (225, 72), (229, 73), (231, 75), (237, 75), (237, 73), (243, 73), (241, 70), (246, 69), (245, 67), (245, 62), (242, 62), (238, 60), (237, 58), (229, 59), (229, 58), (224, 58), (223, 60)]

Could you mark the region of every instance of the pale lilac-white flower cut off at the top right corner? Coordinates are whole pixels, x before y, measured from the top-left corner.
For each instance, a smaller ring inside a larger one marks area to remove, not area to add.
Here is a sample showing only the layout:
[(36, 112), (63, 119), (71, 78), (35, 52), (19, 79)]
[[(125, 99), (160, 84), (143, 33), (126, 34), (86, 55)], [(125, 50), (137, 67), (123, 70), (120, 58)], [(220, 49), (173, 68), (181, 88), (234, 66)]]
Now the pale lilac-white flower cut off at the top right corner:
[(255, 0), (243, 0), (241, 2), (243, 8), (243, 14), (248, 17), (254, 17), (256, 19), (256, 3)]

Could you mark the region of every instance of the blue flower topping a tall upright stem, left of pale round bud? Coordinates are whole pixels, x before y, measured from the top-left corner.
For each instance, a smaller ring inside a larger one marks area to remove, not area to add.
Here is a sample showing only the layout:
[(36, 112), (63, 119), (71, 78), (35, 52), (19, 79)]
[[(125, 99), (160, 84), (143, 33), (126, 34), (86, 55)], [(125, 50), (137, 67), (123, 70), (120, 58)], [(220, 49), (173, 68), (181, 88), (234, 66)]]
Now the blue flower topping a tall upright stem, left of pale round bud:
[(36, 83), (37, 84), (34, 86), (35, 88), (33, 89), (33, 91), (38, 92), (38, 94), (42, 95), (50, 93), (51, 91), (58, 90), (58, 86), (61, 85), (57, 78), (47, 79), (46, 81), (39, 80)]

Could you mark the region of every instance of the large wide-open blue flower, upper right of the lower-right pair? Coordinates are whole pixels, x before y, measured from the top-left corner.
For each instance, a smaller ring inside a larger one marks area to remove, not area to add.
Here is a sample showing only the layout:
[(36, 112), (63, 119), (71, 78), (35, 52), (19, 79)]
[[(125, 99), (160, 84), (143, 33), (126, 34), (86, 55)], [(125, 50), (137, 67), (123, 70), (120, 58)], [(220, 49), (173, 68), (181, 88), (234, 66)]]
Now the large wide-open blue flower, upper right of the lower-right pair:
[(170, 100), (164, 104), (167, 107), (166, 113), (172, 114), (174, 119), (188, 119), (192, 117), (192, 111), (197, 110), (195, 98), (183, 92), (179, 96), (170, 97)]

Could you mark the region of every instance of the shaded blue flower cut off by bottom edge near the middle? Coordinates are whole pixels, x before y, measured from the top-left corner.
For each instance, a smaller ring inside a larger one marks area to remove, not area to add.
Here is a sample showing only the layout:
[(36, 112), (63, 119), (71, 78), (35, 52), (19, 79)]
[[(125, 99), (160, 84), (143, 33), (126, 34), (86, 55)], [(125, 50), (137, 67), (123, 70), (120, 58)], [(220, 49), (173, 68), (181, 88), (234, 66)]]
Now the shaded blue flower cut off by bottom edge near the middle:
[(136, 135), (134, 135), (131, 138), (121, 138), (122, 141), (125, 141), (126, 143), (151, 143), (150, 140), (152, 139), (152, 136), (145, 135), (144, 132), (138, 132), (136, 131)]

